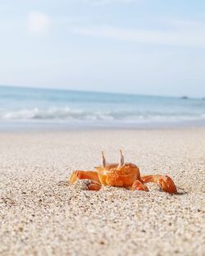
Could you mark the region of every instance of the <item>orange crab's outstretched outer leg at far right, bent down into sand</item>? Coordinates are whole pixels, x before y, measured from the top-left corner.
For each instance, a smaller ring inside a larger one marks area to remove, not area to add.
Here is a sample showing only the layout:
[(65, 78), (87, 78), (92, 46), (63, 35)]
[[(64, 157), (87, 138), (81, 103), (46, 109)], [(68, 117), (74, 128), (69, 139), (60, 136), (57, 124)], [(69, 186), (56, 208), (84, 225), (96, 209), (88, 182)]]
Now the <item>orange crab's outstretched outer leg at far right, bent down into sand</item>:
[(166, 176), (162, 176), (162, 175), (141, 176), (141, 180), (144, 183), (148, 183), (148, 182), (157, 183), (157, 185), (159, 185), (163, 191), (168, 192), (170, 194), (177, 194), (174, 181), (172, 181), (171, 177), (167, 175)]

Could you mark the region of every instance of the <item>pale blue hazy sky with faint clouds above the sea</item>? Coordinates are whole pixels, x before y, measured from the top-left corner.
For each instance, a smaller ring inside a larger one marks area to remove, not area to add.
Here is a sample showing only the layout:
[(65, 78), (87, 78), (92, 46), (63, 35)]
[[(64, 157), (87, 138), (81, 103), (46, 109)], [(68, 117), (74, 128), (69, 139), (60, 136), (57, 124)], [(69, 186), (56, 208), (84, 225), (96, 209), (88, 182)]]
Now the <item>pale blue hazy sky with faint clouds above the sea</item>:
[(205, 96), (204, 0), (0, 0), (0, 85)]

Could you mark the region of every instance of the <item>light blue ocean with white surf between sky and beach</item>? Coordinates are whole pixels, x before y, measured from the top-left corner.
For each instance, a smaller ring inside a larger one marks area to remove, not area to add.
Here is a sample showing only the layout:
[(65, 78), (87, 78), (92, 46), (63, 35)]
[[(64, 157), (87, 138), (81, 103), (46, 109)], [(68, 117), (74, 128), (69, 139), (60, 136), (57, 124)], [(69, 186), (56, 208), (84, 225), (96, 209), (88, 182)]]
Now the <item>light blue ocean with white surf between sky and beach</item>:
[(205, 125), (203, 98), (0, 86), (0, 129)]

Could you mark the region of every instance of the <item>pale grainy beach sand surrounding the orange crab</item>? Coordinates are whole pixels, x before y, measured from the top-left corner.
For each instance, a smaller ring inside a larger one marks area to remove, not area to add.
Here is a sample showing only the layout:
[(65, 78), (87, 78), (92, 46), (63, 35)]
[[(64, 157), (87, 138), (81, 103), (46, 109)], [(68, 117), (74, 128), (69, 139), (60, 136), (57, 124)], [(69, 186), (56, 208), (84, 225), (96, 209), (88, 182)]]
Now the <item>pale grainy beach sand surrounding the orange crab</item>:
[[(118, 149), (180, 194), (66, 183)], [(205, 128), (2, 132), (0, 152), (1, 255), (205, 255)]]

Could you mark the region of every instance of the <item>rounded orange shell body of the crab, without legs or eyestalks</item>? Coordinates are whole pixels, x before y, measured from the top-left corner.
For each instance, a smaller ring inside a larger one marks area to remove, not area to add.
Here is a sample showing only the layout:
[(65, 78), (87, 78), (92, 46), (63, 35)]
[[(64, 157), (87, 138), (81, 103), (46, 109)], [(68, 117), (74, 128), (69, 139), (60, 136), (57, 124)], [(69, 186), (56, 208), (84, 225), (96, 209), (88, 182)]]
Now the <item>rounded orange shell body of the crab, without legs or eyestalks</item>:
[(98, 178), (102, 185), (112, 185), (118, 187), (130, 187), (134, 181), (140, 180), (139, 167), (133, 163), (118, 163), (106, 164), (105, 167), (95, 167), (98, 171)]

